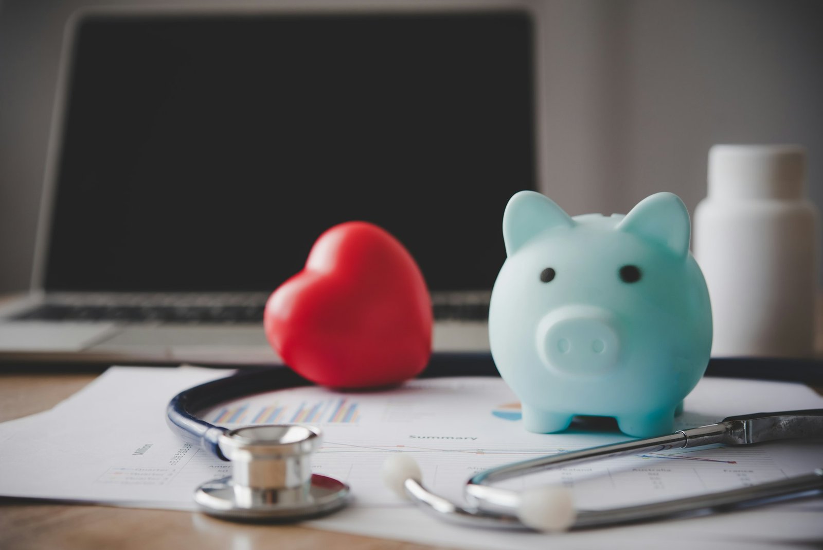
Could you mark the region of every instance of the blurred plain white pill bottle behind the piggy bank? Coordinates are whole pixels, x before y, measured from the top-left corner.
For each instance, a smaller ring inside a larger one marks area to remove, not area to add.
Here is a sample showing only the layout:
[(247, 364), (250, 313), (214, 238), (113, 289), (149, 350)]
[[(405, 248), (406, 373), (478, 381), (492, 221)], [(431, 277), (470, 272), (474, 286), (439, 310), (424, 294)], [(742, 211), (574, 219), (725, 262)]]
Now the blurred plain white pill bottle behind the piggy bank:
[(712, 357), (813, 355), (820, 215), (805, 179), (802, 147), (709, 151), (694, 254), (712, 301)]

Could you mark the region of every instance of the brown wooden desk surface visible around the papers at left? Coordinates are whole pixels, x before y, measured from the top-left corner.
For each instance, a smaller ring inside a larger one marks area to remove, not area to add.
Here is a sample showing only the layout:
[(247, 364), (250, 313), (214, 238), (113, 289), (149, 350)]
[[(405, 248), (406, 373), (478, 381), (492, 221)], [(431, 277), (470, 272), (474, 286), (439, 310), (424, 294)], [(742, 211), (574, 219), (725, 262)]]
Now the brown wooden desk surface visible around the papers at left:
[[(95, 374), (0, 373), (0, 422), (49, 409), (95, 377)], [(233, 524), (192, 512), (0, 498), (0, 549), (12, 548), (422, 550), (431, 547), (292, 525)]]

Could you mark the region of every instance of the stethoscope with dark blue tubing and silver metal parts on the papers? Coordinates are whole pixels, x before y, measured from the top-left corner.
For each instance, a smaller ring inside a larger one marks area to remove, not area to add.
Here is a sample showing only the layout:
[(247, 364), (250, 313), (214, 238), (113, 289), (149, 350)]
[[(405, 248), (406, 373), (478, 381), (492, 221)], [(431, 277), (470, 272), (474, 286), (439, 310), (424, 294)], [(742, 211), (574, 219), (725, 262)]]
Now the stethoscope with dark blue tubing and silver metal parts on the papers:
[[(714, 360), (717, 361), (717, 360)], [(433, 359), (428, 376), (493, 375), (471, 357)], [(197, 417), (219, 403), (277, 389), (310, 385), (288, 368), (243, 372), (195, 386), (176, 395), (167, 420), (179, 436), (231, 462), (231, 475), (198, 487), (194, 500), (209, 515), (230, 520), (295, 521), (339, 510), (349, 501), (346, 483), (311, 473), (311, 454), (321, 433), (302, 425), (260, 425), (229, 430)], [(395, 453), (381, 473), (386, 485), (437, 518), (459, 524), (556, 531), (662, 520), (823, 495), (823, 468), (776, 482), (610, 510), (574, 510), (560, 487), (515, 492), (491, 483), (597, 459), (701, 445), (749, 445), (770, 440), (823, 437), (823, 409), (757, 413), (677, 431), (667, 436), (630, 440), (587, 450), (529, 459), (487, 469), (464, 487), (467, 505), (430, 492), (420, 468), (408, 454)]]

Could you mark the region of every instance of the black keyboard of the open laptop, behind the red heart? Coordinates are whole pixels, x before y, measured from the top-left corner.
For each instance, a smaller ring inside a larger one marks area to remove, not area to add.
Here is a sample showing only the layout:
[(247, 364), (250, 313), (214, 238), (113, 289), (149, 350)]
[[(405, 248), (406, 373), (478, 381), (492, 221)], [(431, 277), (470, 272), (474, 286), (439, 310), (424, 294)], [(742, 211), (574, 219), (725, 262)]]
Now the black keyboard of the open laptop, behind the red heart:
[[(119, 323), (260, 324), (264, 305), (40, 305), (16, 315), (30, 321), (114, 321)], [(434, 305), (435, 320), (485, 321), (488, 303)]]

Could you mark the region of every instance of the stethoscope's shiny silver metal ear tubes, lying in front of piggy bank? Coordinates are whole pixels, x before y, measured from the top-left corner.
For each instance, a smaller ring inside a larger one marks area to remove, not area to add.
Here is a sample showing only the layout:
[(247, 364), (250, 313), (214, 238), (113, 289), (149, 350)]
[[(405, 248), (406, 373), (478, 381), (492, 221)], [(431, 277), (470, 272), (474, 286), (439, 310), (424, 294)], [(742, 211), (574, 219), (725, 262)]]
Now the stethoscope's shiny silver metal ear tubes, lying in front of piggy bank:
[[(587, 450), (554, 454), (490, 468), (472, 477), (464, 489), (469, 506), (460, 506), (430, 492), (419, 476), (406, 478), (407, 496), (430, 515), (453, 523), (511, 529), (587, 529), (608, 525), (705, 515), (717, 511), (760, 506), (790, 499), (823, 495), (823, 468), (775, 482), (761, 483), (730, 491), (690, 496), (672, 501), (625, 506), (610, 510), (579, 511), (570, 521), (557, 524), (551, 518), (532, 519), (536, 510), (523, 510), (523, 493), (492, 487), (489, 483), (572, 464), (609, 459), (629, 454), (685, 449), (720, 443), (748, 445), (769, 440), (823, 436), (823, 410), (760, 413), (728, 417), (723, 422), (677, 431), (669, 436), (602, 445)], [(555, 527), (552, 529), (552, 527)]]

